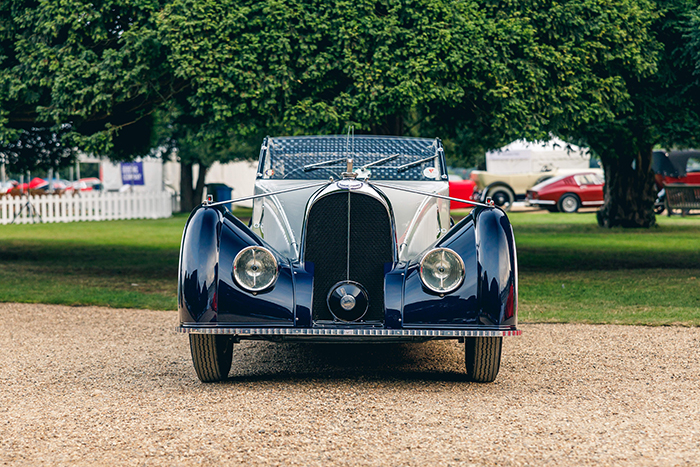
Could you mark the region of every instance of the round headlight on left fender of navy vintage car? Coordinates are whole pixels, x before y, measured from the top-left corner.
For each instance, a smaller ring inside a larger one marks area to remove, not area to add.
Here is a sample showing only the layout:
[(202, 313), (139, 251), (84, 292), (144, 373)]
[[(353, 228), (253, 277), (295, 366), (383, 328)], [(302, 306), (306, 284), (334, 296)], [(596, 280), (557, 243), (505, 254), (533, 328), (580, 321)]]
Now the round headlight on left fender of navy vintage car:
[(246, 290), (265, 290), (277, 280), (277, 260), (263, 247), (243, 248), (233, 260), (233, 277)]

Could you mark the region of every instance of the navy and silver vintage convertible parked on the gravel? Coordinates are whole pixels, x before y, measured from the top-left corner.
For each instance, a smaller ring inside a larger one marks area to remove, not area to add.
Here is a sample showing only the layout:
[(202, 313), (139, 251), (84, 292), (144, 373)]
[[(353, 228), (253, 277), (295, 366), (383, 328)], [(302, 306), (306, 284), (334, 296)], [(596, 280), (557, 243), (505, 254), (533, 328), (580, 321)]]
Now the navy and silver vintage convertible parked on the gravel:
[[(448, 196), (439, 139), (268, 137), (248, 225), (198, 206), (182, 238), (179, 331), (204, 382), (227, 378), (233, 344), (465, 344), (490, 382), (517, 329), (513, 230), (493, 205)], [(450, 200), (474, 205), (462, 221)]]

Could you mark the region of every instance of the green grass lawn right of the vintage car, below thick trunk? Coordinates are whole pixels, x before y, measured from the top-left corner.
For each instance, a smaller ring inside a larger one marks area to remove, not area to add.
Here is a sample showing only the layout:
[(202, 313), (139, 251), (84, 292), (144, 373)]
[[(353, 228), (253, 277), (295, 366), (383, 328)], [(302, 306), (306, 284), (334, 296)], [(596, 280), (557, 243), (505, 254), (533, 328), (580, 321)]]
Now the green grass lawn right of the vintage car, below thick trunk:
[(521, 321), (700, 325), (700, 218), (610, 230), (593, 213), (509, 217)]

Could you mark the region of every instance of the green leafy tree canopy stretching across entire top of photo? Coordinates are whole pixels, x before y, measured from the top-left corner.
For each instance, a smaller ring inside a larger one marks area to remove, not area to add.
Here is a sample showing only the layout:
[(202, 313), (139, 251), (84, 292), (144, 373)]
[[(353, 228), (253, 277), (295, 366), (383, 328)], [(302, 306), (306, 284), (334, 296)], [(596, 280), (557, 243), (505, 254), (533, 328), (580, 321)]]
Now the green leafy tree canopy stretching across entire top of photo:
[[(169, 142), (206, 167), (348, 124), (438, 135), (462, 159), (554, 133), (623, 173), (698, 134), (696, 3), (0, 0), (0, 140), (70, 125), (70, 146), (127, 159)], [(631, 224), (649, 224), (648, 183), (627, 191), (609, 196), (624, 211), (638, 194)]]

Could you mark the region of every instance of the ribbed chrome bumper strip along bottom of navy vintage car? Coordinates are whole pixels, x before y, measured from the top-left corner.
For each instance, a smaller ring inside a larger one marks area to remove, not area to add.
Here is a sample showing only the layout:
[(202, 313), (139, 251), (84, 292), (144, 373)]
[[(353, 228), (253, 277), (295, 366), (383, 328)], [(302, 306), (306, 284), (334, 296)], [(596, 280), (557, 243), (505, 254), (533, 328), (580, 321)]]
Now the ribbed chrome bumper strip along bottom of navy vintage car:
[(521, 330), (477, 329), (342, 329), (342, 328), (228, 328), (178, 326), (184, 334), (230, 334), (248, 336), (395, 336), (395, 337), (506, 337), (520, 336)]

